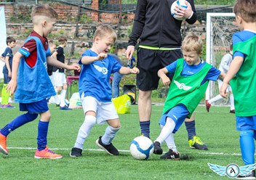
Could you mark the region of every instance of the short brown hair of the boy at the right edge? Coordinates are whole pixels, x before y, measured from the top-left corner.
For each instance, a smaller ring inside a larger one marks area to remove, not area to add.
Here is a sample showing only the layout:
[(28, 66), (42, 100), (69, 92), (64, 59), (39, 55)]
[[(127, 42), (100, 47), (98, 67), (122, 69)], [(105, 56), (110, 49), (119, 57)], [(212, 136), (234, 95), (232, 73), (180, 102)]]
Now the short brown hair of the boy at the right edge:
[(247, 23), (256, 22), (256, 1), (237, 0), (233, 7), (233, 12), (239, 15)]

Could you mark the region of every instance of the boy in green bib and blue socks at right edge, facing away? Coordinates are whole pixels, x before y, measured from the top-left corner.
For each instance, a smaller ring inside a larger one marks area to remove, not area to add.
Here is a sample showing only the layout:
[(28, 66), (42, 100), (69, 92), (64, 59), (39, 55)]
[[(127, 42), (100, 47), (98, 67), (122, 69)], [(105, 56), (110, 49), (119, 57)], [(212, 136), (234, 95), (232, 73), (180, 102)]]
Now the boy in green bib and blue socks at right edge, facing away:
[[(245, 165), (255, 163), (256, 139), (256, 1), (237, 0), (233, 11), (241, 29), (233, 34), (233, 61), (223, 79), (220, 95), (227, 96), (228, 83), (233, 89), (236, 129), (240, 131), (241, 158)], [(255, 170), (236, 179), (255, 179)]]

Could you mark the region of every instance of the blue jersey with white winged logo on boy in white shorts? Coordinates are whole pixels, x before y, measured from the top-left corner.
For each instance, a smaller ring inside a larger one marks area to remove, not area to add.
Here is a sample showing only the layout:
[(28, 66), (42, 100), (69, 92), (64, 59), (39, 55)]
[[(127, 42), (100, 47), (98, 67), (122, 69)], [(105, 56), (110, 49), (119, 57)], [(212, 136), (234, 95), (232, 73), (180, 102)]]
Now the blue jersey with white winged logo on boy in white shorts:
[[(97, 53), (87, 49), (82, 57), (97, 57)], [(81, 60), (79, 61), (81, 65)], [(88, 65), (82, 65), (79, 78), (79, 94), (84, 97), (95, 97), (100, 102), (111, 102), (112, 89), (109, 83), (111, 73), (116, 73), (121, 65), (110, 55), (100, 61), (92, 62)]]

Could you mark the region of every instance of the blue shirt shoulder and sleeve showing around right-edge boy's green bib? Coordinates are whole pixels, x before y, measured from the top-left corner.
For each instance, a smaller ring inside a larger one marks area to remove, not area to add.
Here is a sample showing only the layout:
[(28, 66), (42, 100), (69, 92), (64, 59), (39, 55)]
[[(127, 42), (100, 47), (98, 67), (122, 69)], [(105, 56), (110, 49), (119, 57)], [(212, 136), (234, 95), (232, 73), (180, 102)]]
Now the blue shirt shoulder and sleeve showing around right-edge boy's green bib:
[[(252, 38), (255, 35), (256, 35), (256, 32), (251, 30), (241, 30), (237, 33), (234, 33), (233, 46), (241, 41), (247, 41), (249, 38)], [(237, 56), (245, 58), (245, 54), (241, 52), (233, 52), (233, 58)]]

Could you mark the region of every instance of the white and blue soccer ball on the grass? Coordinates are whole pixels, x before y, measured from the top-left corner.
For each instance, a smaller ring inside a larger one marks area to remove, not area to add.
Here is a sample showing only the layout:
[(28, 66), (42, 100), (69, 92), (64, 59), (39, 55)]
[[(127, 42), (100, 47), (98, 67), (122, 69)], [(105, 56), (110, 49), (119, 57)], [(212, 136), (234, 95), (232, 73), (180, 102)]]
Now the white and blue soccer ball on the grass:
[(153, 153), (153, 142), (145, 136), (137, 136), (129, 145), (129, 152), (137, 160), (147, 160)]

